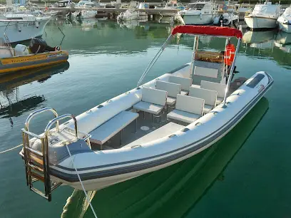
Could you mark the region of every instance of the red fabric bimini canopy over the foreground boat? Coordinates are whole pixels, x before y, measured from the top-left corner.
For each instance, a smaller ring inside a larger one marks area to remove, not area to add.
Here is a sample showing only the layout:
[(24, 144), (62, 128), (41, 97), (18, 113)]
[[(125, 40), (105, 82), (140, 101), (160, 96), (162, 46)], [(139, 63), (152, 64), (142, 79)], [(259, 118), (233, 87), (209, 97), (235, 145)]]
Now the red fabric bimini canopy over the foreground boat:
[(172, 35), (176, 33), (189, 33), (197, 35), (208, 35), (208, 36), (230, 36), (236, 38), (242, 38), (242, 32), (237, 28), (220, 27), (220, 26), (176, 26), (173, 28)]

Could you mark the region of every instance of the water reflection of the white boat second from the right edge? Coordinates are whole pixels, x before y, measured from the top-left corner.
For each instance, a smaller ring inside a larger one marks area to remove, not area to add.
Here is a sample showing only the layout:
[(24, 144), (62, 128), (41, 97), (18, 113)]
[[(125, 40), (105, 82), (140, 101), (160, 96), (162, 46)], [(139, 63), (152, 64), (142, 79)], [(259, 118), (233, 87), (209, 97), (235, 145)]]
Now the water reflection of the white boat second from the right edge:
[(242, 36), (242, 42), (250, 48), (272, 49), (277, 31), (247, 31)]

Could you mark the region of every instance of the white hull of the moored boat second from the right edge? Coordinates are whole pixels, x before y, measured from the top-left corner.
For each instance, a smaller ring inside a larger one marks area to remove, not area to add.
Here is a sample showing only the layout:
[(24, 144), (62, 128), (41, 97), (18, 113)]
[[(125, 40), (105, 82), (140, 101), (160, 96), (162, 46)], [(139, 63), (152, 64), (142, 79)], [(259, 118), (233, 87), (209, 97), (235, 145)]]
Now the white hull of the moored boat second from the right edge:
[(245, 23), (251, 29), (277, 27), (277, 19), (273, 19), (273, 18), (245, 16)]

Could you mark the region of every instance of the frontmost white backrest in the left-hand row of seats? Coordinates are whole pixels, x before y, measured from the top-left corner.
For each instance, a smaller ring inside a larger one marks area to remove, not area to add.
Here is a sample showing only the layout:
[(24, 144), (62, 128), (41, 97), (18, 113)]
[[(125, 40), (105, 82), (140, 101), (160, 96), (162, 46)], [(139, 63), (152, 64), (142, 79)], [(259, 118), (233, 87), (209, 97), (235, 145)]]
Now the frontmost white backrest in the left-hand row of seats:
[(167, 100), (167, 92), (165, 90), (143, 87), (141, 100), (163, 106)]

